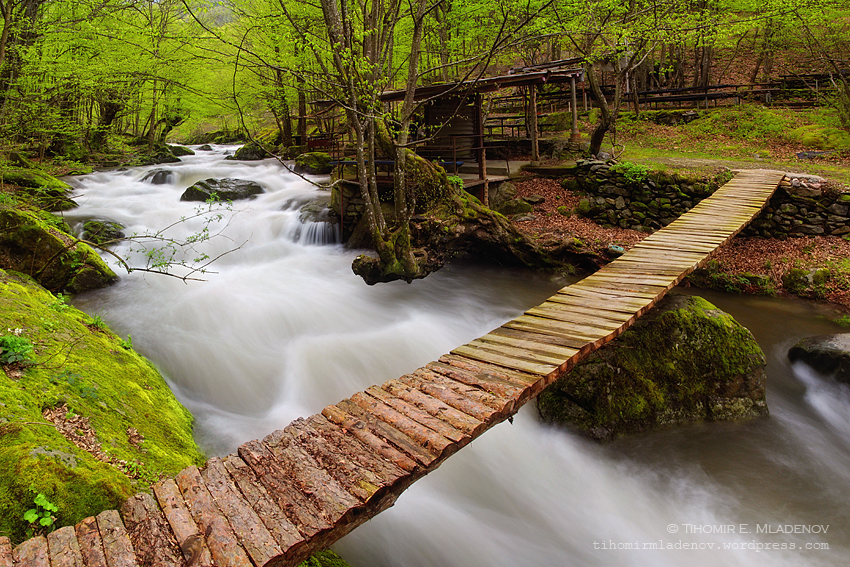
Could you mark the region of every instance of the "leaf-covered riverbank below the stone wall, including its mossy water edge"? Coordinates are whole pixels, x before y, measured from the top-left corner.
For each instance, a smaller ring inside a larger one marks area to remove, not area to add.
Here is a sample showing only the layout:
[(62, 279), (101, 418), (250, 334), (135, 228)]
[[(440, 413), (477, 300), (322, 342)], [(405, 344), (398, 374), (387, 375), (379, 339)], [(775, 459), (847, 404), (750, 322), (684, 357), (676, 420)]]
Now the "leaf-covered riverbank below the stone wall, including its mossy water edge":
[[(519, 197), (544, 197), (534, 205), (533, 219), (517, 223), (541, 240), (577, 236), (604, 258), (611, 257), (609, 246), (628, 249), (648, 236), (604, 228), (577, 216), (574, 210), (581, 197), (558, 180), (528, 176), (516, 187)], [(850, 242), (835, 236), (735, 237), (712, 254), (706, 269), (686, 282), (732, 293), (807, 297), (850, 312)]]

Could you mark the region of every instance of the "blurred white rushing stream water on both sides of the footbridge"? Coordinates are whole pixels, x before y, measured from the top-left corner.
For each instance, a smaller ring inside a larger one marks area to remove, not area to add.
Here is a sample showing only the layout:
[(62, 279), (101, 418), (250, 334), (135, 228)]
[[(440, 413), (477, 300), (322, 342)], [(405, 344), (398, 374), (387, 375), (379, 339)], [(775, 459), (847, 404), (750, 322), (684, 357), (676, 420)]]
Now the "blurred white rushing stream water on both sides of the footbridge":
[[(265, 186), (265, 194), (237, 202), (211, 227), (226, 226), (225, 237), (203, 251), (216, 257), (239, 249), (213, 264), (218, 273), (206, 274), (207, 281), (134, 272), (78, 298), (116, 332), (131, 334), (160, 367), (196, 416), (209, 454), (233, 451), (409, 372), (560, 285), (498, 268), (449, 266), (412, 285), (366, 286), (350, 269), (355, 252), (318, 245), (333, 232), (299, 222), (300, 205), (316, 189), (273, 161), (223, 161), (223, 150), (169, 166), (174, 174), (162, 185), (141, 181), (154, 168), (78, 178), (81, 207), (68, 215), (115, 220), (140, 234), (191, 216), (196, 205), (179, 197), (199, 179)], [(192, 219), (168, 236), (202, 228)], [(144, 261), (127, 246), (116, 251), (134, 265)], [(528, 407), (336, 549), (355, 566), (850, 562), (850, 395), (823, 378), (794, 375), (785, 361), (795, 340), (836, 330), (806, 304), (709, 299), (759, 328), (753, 331), (770, 359), (770, 418), (600, 446), (542, 426)], [(825, 533), (776, 533), (788, 526)]]

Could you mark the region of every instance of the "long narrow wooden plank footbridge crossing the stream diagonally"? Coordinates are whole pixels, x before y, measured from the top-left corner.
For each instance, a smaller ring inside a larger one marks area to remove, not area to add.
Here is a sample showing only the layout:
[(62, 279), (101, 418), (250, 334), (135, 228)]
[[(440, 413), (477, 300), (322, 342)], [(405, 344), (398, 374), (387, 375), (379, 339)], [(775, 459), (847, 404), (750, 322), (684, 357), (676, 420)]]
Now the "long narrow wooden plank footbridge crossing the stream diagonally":
[[(292, 422), (153, 494), (27, 540), (0, 567), (295, 565), (393, 504), (623, 332), (761, 211), (782, 174), (745, 171), (543, 304), (397, 380)], [(123, 521), (122, 521), (123, 520)]]

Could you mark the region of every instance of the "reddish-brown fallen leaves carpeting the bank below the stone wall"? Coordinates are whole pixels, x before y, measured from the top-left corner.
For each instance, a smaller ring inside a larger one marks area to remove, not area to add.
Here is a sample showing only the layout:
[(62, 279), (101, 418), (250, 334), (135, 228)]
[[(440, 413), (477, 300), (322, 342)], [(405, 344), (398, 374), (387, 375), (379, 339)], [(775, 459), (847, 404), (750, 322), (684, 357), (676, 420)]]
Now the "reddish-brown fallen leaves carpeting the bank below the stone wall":
[[(559, 213), (558, 207), (574, 209), (580, 197), (564, 189), (557, 180), (528, 176), (517, 182), (516, 187), (519, 197), (537, 194), (545, 198), (534, 207), (535, 220), (518, 223), (521, 230), (540, 238), (575, 235), (605, 257), (610, 244), (628, 249), (648, 236), (635, 230), (604, 228), (589, 219)], [(828, 301), (850, 312), (850, 242), (843, 238), (825, 236), (776, 240), (735, 237), (718, 248), (711, 255), (711, 260), (717, 262), (713, 264), (716, 272), (726, 276), (725, 279), (716, 278), (719, 282), (735, 281), (741, 274), (767, 276), (771, 284), (749, 291), (768, 295), (789, 294), (782, 279), (792, 268), (827, 270), (825, 281), (805, 296)]]

